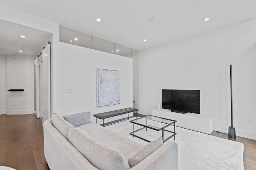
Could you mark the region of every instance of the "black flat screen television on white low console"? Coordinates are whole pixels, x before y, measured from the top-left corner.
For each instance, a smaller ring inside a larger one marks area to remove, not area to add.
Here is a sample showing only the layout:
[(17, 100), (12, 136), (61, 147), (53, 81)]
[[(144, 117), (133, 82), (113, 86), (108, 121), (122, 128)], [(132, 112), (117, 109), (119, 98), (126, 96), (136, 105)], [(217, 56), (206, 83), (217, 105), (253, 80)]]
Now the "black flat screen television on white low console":
[(178, 113), (200, 114), (200, 90), (162, 89), (162, 108)]

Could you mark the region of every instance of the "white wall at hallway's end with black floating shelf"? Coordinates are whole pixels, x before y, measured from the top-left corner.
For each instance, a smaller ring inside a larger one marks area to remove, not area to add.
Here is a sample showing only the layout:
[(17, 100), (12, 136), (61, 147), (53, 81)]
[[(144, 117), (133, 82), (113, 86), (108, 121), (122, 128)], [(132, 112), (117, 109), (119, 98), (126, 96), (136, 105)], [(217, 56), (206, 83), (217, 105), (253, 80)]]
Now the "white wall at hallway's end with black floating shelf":
[(7, 92), (7, 114), (34, 113), (34, 58), (7, 56), (7, 89), (24, 89)]

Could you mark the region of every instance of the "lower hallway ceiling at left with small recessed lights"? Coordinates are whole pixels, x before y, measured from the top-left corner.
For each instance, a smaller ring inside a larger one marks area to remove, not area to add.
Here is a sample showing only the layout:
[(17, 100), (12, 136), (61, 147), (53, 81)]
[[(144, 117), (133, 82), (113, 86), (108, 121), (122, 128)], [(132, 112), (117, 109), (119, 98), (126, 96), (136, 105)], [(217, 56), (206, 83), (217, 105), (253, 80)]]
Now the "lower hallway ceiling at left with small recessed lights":
[[(43, 50), (52, 33), (0, 20), (0, 54), (36, 57)], [(20, 35), (25, 35), (21, 38)], [(18, 47), (22, 45), (23, 47)], [(19, 50), (22, 51), (19, 52)]]

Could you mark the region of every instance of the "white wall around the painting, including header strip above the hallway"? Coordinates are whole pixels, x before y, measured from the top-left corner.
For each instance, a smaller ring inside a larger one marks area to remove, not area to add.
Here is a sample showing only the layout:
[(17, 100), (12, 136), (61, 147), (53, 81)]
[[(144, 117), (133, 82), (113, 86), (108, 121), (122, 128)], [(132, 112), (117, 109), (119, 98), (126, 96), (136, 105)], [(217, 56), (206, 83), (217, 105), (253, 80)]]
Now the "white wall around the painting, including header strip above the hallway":
[[(53, 33), (51, 45), (52, 112), (66, 115), (80, 111), (92, 111), (93, 115), (102, 111), (132, 107), (132, 59), (61, 43), (57, 23), (24, 12), (0, 6), (0, 19)], [(96, 68), (121, 71), (120, 105), (96, 107)], [(62, 94), (62, 89), (66, 88), (72, 89), (73, 93)]]

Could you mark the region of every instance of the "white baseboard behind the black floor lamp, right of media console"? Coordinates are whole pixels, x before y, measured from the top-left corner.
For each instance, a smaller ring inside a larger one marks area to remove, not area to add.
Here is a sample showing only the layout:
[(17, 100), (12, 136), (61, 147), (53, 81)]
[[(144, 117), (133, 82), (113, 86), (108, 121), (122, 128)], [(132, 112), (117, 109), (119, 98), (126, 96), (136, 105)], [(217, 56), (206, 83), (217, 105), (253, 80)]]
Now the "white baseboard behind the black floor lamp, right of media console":
[[(222, 133), (228, 134), (228, 127), (224, 127), (224, 126), (220, 126), (220, 125), (214, 125), (214, 131), (220, 131)], [(240, 129), (236, 129), (236, 136), (256, 140), (256, 133), (255, 132), (243, 131), (243, 130), (240, 130)]]

